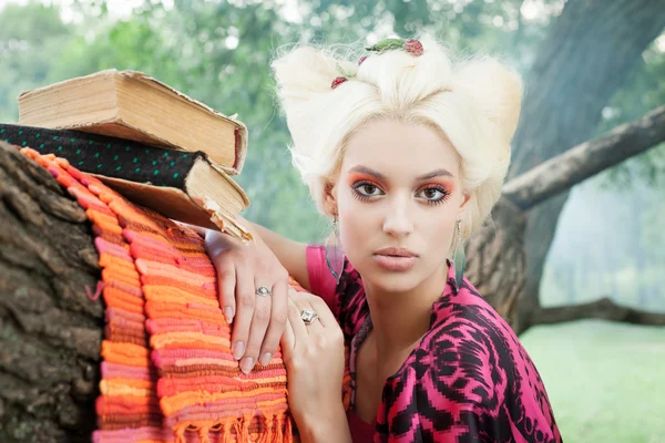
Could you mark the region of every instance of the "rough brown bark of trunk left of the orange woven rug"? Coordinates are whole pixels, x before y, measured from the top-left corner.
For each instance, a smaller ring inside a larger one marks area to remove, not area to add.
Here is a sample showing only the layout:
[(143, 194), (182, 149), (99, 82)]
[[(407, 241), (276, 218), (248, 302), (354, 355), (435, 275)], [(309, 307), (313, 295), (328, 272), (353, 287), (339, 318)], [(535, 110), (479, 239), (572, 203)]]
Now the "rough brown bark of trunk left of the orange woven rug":
[(102, 301), (88, 218), (51, 175), (0, 142), (0, 441), (89, 442)]

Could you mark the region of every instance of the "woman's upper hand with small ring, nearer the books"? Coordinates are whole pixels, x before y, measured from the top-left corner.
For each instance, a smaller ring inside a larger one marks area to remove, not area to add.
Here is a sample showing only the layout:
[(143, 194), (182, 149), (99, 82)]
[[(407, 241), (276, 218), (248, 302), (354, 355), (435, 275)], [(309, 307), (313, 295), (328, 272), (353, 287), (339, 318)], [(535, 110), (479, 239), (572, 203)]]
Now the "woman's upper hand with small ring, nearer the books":
[[(233, 322), (231, 349), (241, 370), (248, 373), (257, 360), (268, 364), (284, 333), (288, 307), (288, 272), (260, 240), (241, 240), (208, 230), (205, 247), (217, 269), (219, 307)], [(272, 296), (256, 293), (266, 287)]]

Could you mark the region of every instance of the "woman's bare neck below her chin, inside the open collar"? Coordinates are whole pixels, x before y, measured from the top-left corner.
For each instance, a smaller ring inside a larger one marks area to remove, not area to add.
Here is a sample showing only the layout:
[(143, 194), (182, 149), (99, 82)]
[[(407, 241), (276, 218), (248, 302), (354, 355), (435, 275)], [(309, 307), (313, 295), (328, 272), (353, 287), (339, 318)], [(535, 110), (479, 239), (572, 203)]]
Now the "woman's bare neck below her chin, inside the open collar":
[[(418, 344), (429, 330), (432, 303), (441, 297), (447, 277), (448, 265), (443, 264), (431, 277), (406, 292), (390, 292), (365, 282), (379, 363), (399, 367), (405, 354)], [(393, 360), (398, 363), (391, 364)]]

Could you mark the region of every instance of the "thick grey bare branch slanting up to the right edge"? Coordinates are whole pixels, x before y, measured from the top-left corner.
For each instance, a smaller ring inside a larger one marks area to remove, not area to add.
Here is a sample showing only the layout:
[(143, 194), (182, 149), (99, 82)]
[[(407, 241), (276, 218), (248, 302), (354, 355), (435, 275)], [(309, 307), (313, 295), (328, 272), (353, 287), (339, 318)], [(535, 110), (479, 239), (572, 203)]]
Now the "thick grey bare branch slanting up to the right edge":
[(511, 179), (503, 196), (526, 210), (665, 141), (665, 106), (584, 142)]

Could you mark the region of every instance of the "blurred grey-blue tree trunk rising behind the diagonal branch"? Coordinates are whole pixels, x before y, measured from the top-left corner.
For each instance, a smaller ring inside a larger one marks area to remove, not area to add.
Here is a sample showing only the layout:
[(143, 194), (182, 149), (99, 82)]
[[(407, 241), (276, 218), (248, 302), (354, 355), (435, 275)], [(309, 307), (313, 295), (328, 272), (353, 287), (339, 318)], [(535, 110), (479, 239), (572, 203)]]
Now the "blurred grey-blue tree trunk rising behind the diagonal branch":
[[(590, 138), (603, 106), (664, 27), (661, 0), (566, 2), (526, 79), (510, 176)], [(524, 290), (530, 301), (520, 309), (539, 306), (543, 266), (566, 198), (560, 194), (529, 213)]]

